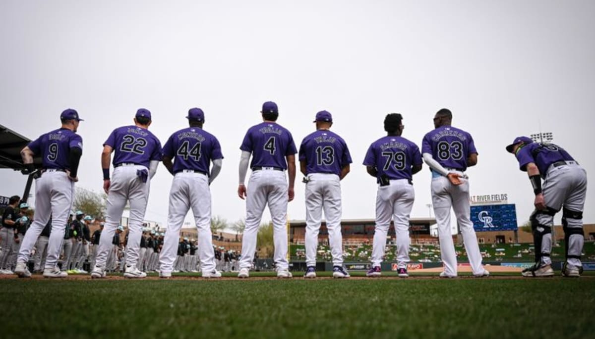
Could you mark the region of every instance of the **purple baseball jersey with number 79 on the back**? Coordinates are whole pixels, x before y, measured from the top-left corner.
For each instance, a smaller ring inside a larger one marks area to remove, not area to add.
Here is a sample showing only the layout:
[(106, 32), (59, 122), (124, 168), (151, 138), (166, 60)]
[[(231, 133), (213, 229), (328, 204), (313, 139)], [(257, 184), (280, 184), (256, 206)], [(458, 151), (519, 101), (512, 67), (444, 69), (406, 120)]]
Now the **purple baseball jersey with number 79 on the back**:
[(393, 135), (382, 137), (370, 145), (364, 159), (365, 166), (376, 167), (377, 179), (412, 179), (412, 166), (421, 166), (419, 147), (413, 142)]

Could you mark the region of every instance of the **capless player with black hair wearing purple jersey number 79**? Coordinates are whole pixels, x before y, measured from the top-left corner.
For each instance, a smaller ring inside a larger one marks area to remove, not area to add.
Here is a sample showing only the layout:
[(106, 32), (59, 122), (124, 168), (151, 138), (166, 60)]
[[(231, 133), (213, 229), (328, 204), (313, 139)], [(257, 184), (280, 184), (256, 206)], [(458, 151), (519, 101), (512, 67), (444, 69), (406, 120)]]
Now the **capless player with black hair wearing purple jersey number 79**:
[(413, 175), (421, 170), (422, 161), (419, 147), (401, 137), (402, 120), (399, 113), (390, 113), (384, 118), (387, 135), (372, 142), (364, 159), (368, 174), (378, 183), (372, 268), (366, 274), (368, 277), (381, 275), (380, 264), (391, 219), (394, 220), (396, 236), (397, 272), (399, 277), (409, 277), (409, 214), (415, 200), (412, 180)]

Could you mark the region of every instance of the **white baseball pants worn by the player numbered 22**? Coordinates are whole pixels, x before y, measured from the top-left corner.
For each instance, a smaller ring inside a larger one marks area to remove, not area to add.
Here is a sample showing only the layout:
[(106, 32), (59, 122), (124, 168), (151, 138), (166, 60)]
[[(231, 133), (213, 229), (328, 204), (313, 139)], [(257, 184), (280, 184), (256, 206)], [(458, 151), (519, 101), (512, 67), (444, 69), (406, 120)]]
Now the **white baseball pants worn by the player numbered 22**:
[(108, 252), (112, 246), (112, 238), (120, 224), (127, 201), (130, 202), (130, 219), (126, 264), (135, 266), (139, 259), (142, 223), (149, 199), (151, 180), (147, 179), (147, 182), (143, 183), (136, 175), (137, 170), (148, 169), (139, 165), (119, 166), (112, 173), (107, 201), (107, 217), (105, 218), (104, 230), (99, 239), (99, 251), (95, 261), (96, 267), (105, 267)]

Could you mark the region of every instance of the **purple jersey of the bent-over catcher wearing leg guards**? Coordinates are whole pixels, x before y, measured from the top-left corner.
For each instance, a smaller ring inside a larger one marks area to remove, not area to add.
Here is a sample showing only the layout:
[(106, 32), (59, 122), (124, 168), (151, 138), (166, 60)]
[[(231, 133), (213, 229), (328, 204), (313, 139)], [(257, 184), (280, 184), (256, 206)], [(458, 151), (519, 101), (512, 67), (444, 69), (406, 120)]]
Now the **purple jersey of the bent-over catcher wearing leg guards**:
[(519, 167), (522, 171), (527, 171), (527, 164), (534, 163), (539, 169), (539, 173), (545, 176), (547, 168), (556, 161), (574, 161), (570, 154), (562, 147), (555, 144), (541, 144), (533, 142), (522, 145), (516, 150), (516, 160), (519, 161)]

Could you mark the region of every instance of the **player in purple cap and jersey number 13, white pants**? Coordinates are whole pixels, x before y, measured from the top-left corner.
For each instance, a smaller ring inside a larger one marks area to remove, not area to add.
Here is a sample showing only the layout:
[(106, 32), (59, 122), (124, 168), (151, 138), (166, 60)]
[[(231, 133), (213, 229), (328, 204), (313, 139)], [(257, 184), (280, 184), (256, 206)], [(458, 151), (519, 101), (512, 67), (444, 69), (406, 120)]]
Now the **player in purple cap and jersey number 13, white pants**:
[(341, 236), (341, 183), (352, 163), (345, 141), (330, 131), (331, 113), (321, 110), (314, 119), (316, 131), (303, 138), (299, 148), (300, 170), (306, 183), (306, 273), (316, 277), (316, 253), (322, 210), (333, 256), (333, 277), (349, 278), (343, 268)]

